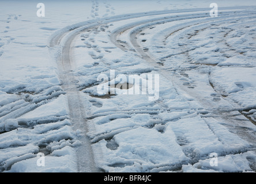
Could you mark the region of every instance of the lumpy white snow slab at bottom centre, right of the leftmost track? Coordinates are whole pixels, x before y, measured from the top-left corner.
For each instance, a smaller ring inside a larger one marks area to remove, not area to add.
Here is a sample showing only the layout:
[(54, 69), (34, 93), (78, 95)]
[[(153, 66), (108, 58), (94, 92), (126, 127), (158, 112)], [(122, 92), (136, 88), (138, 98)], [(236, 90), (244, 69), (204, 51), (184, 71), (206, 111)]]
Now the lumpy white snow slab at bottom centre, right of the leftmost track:
[[(130, 135), (133, 135), (132, 137)], [(135, 171), (148, 171), (149, 168), (176, 164), (187, 160), (186, 156), (175, 141), (174, 132), (167, 130), (164, 135), (154, 129), (135, 128), (125, 131), (113, 137), (119, 145), (115, 151), (106, 151), (107, 165), (124, 163), (127, 168), (112, 168), (111, 172), (132, 171), (130, 164), (136, 162)], [(100, 141), (106, 144), (106, 141)], [(118, 155), (113, 156), (112, 154)], [(111, 159), (112, 158), (112, 159)], [(116, 160), (118, 159), (118, 160)]]

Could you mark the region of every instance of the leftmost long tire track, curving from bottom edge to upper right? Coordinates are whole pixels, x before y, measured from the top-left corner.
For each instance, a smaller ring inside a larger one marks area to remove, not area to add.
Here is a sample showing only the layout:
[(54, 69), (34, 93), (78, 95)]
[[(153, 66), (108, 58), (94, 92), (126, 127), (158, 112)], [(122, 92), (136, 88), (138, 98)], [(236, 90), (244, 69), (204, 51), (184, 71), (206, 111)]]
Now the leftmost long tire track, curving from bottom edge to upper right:
[(85, 121), (86, 109), (84, 105), (81, 104), (81, 91), (76, 86), (76, 83), (74, 83), (74, 81), (77, 81), (77, 79), (72, 72), (75, 68), (75, 61), (73, 61), (70, 56), (72, 41), (76, 39), (78, 33), (85, 32), (86, 30), (93, 28), (99, 28), (99, 26), (103, 24), (162, 13), (169, 13), (169, 11), (129, 14), (121, 17), (114, 16), (110, 18), (103, 18), (100, 21), (86, 21), (67, 26), (66, 28), (63, 28), (52, 34), (48, 40), (47, 45), (50, 48), (50, 53), (52, 57), (57, 60), (59, 66), (59, 78), (61, 78), (63, 83), (62, 88), (67, 95), (71, 122), (73, 122), (74, 129), (80, 129), (84, 134), (84, 136), (80, 138), (82, 145), (77, 150), (77, 163), (79, 172), (95, 172), (99, 170), (95, 165), (91, 141), (86, 136), (88, 133), (88, 128), (86, 127)]

